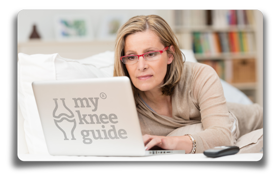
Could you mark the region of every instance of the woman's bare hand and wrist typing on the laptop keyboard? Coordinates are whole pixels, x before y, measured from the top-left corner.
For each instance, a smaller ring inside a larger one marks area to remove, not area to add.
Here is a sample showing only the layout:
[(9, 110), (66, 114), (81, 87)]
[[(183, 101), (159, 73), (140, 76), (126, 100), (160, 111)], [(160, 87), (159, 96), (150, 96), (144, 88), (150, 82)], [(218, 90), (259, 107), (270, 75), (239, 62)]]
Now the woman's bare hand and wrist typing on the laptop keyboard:
[(165, 150), (186, 150), (186, 153), (190, 153), (193, 146), (189, 136), (165, 137), (145, 134), (143, 136), (143, 141), (145, 147), (147, 147), (146, 150), (150, 150), (157, 146)]

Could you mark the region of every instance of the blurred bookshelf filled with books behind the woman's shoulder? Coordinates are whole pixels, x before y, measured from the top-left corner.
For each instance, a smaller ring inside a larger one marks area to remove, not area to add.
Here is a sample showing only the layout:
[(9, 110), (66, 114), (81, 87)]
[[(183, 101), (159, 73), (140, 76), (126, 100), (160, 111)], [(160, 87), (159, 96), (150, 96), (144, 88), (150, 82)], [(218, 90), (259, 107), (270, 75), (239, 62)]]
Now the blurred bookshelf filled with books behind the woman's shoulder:
[(255, 10), (175, 10), (171, 14), (180, 48), (193, 49), (199, 63), (212, 66), (220, 78), (253, 102), (262, 101), (262, 94), (257, 93), (262, 74), (257, 72), (261, 62), (256, 16)]

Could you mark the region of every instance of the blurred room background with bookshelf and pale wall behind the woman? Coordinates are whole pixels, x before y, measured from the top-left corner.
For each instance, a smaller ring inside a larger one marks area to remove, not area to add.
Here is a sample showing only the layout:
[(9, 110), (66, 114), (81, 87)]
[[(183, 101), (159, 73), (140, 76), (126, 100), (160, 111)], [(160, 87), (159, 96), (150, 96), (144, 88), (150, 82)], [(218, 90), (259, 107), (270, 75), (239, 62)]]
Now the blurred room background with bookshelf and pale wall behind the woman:
[(114, 51), (118, 28), (136, 15), (159, 15), (172, 28), (181, 49), (263, 105), (262, 14), (258, 10), (44, 11), (18, 14), (18, 53), (82, 59)]

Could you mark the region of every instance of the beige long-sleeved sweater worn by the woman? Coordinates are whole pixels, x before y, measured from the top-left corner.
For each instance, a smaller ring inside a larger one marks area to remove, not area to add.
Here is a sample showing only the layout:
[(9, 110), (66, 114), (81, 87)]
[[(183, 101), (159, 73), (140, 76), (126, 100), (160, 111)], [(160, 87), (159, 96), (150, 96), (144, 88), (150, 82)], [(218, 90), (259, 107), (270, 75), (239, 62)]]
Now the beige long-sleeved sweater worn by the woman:
[(172, 117), (152, 111), (140, 97), (135, 100), (143, 135), (167, 136), (177, 128), (202, 123), (203, 131), (191, 133), (197, 143), (196, 153), (236, 143), (237, 119), (228, 111), (220, 79), (208, 65), (184, 63), (181, 79), (171, 96)]

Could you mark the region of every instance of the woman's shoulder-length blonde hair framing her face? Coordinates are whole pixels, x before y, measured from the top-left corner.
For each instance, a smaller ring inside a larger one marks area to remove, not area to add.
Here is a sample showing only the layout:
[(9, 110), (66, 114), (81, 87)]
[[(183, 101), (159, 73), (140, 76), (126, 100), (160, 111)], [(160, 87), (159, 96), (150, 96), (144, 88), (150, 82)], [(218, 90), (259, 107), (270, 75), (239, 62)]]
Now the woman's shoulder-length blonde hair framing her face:
[[(180, 51), (178, 39), (168, 23), (157, 15), (134, 16), (119, 28), (115, 44), (113, 76), (127, 76), (130, 79), (125, 65), (120, 60), (120, 57), (124, 55), (125, 38), (130, 34), (147, 30), (153, 31), (160, 38), (161, 43), (165, 47), (170, 45), (174, 47), (174, 53), (169, 49), (166, 50), (167, 54), (171, 53), (174, 56), (174, 59), (171, 64), (167, 65), (167, 72), (164, 78), (165, 83), (160, 86), (162, 88), (162, 95), (172, 95), (183, 70), (184, 61), (182, 55), (184, 56), (184, 54)], [(137, 95), (138, 89), (132, 83), (131, 86), (134, 96)]]

